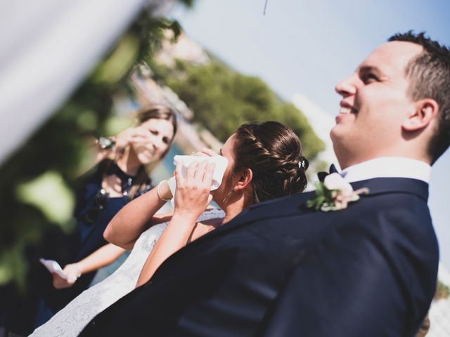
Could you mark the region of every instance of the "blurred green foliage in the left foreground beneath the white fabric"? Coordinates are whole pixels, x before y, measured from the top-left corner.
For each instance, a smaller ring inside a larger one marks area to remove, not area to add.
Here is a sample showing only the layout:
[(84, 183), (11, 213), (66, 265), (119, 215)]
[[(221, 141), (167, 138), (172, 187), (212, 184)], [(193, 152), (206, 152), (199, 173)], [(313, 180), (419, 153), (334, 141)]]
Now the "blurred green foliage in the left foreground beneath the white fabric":
[[(179, 2), (190, 6), (193, 0)], [(107, 133), (113, 95), (127, 88), (135, 65), (158, 51), (167, 28), (175, 37), (180, 33), (177, 22), (143, 11), (68, 102), (1, 164), (0, 285), (26, 289), (30, 265), (25, 256), (36, 260), (42, 249), (55, 248), (58, 240), (42, 244), (47, 234), (70, 232), (74, 199), (70, 187), (92, 163), (86, 136)], [(51, 199), (49, 194), (55, 192), (65, 201)]]

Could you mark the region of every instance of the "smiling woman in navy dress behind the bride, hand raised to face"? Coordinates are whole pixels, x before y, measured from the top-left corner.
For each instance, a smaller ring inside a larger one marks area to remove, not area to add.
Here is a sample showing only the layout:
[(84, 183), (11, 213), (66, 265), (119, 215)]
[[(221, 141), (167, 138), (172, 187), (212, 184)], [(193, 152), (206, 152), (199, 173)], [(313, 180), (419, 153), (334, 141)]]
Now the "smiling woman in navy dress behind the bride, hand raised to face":
[[(30, 320), (23, 312), (12, 317), (13, 326), (21, 328), (17, 333), (31, 333), (44, 324), (73, 298), (89, 287), (96, 270), (116, 260), (124, 249), (108, 244), (103, 231), (115, 214), (130, 200), (153, 187), (146, 166), (156, 164), (167, 154), (176, 133), (176, 113), (169, 107), (150, 105), (137, 112), (137, 125), (113, 138), (101, 138), (98, 142), (98, 164), (79, 178), (75, 207), (76, 230), (58, 260), (65, 265), (67, 279), (53, 274), (42, 291), (36, 310)], [(153, 166), (153, 165), (152, 165)], [(55, 256), (44, 256), (52, 258)], [(30, 305), (30, 303), (28, 303)], [(15, 322), (20, 319), (21, 322)], [(25, 328), (26, 322), (32, 326)], [(19, 325), (19, 326), (20, 326)], [(14, 331), (16, 332), (16, 331)]]

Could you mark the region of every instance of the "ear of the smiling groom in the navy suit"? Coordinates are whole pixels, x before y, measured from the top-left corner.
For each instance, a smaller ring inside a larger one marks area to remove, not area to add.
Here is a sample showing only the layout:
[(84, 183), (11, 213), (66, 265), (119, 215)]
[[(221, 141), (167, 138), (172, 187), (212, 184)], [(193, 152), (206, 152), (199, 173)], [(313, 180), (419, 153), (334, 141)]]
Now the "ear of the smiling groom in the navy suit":
[(406, 117), (401, 125), (404, 131), (420, 131), (426, 128), (439, 112), (439, 105), (431, 98), (417, 100), (414, 105), (415, 110)]

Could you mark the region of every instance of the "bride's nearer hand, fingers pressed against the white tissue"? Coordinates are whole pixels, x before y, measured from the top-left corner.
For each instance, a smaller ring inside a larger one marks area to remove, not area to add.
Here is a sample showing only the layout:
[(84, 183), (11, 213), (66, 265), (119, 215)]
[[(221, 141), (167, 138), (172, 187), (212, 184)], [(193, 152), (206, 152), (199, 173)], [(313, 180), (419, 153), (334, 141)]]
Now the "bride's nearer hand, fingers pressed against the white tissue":
[(181, 165), (176, 167), (176, 192), (174, 213), (185, 216), (188, 220), (197, 220), (212, 196), (210, 194), (214, 163), (208, 161), (193, 161), (186, 171), (186, 177), (181, 174)]

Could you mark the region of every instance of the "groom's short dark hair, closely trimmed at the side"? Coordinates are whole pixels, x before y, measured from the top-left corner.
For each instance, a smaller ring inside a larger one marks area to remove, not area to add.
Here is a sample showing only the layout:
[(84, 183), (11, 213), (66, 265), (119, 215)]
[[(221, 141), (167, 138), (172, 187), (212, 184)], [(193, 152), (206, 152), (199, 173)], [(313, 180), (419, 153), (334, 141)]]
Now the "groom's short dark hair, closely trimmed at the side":
[(450, 145), (450, 50), (448, 47), (411, 30), (395, 34), (387, 41), (405, 41), (423, 46), (423, 51), (406, 65), (413, 100), (432, 98), (439, 105), (435, 135), (428, 143), (428, 155), (434, 163)]

